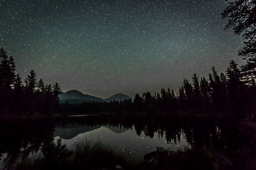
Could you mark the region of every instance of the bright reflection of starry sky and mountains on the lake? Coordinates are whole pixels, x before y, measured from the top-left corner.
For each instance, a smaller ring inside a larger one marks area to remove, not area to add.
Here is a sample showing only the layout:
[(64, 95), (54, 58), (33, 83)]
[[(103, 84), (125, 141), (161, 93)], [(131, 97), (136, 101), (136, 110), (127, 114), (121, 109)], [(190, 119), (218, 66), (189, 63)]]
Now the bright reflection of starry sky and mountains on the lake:
[[(84, 133), (79, 133), (82, 132), (82, 129)], [(67, 132), (70, 132), (69, 135), (66, 135)], [(76, 128), (71, 128), (70, 125), (63, 128), (57, 126), (54, 135), (56, 136), (55, 139), (63, 138), (63, 144), (66, 144), (67, 148), (70, 149), (74, 149), (74, 143), (83, 142), (88, 138), (92, 141), (100, 141), (105, 147), (117, 151), (132, 161), (142, 161), (145, 154), (156, 150), (158, 146), (165, 149), (170, 148), (169, 150), (173, 152), (191, 148), (186, 141), (184, 132), (180, 132), (179, 137), (176, 137), (178, 142), (177, 140), (167, 142), (163, 136), (159, 136), (159, 133), (156, 132), (153, 133), (152, 137), (146, 136), (144, 132), (141, 132), (138, 136), (134, 126), (129, 129), (120, 125), (115, 127), (96, 125)]]

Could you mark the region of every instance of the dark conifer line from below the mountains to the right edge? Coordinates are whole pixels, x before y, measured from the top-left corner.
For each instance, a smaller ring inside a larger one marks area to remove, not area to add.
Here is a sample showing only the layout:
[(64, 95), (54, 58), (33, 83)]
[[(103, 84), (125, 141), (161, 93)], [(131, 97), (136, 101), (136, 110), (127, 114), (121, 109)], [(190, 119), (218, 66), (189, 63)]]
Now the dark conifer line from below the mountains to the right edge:
[(111, 102), (61, 103), (61, 113), (138, 113), (177, 115), (178, 113), (235, 113), (253, 112), (255, 108), (255, 79), (247, 79), (247, 72), (232, 60), (226, 73), (211, 68), (208, 78), (193, 74), (192, 82), (184, 79), (177, 93), (161, 88), (153, 95), (148, 91), (132, 99)]

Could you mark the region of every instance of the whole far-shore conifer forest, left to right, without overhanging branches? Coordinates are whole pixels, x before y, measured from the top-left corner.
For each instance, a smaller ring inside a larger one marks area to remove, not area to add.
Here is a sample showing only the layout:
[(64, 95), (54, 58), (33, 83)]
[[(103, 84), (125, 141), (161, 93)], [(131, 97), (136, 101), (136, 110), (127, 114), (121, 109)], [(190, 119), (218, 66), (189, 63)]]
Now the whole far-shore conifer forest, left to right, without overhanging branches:
[(143, 93), (135, 95), (134, 100), (110, 102), (83, 102), (69, 104), (59, 101), (61, 88), (58, 83), (44, 84), (37, 81), (36, 73), (24, 79), (15, 73), (13, 57), (8, 57), (4, 49), (0, 49), (0, 109), (3, 115), (42, 115), (79, 113), (137, 113), (137, 114), (168, 114), (184, 113), (232, 113), (242, 116), (253, 112), (255, 108), (256, 83), (248, 77), (245, 67), (238, 67), (232, 60), (226, 73), (218, 74), (212, 66), (209, 76), (199, 79), (193, 74), (192, 82), (184, 79), (182, 86), (175, 94), (170, 88), (161, 88), (160, 93)]

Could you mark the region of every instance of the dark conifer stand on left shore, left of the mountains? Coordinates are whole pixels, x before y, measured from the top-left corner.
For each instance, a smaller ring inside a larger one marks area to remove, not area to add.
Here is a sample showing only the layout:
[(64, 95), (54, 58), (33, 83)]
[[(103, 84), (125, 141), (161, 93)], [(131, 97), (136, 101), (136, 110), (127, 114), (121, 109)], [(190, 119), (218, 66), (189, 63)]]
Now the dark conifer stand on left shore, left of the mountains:
[(0, 49), (0, 110), (2, 114), (35, 112), (50, 113), (58, 108), (61, 89), (58, 83), (44, 84), (43, 80), (37, 81), (36, 73), (24, 79), (16, 73), (13, 57), (8, 57), (3, 48)]

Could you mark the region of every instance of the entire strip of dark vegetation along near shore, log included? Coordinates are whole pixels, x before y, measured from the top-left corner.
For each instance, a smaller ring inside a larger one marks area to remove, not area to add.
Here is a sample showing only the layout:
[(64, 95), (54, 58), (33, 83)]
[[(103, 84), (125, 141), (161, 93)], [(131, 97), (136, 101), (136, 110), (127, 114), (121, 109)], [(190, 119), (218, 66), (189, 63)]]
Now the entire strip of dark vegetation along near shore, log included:
[[(41, 155), (20, 161), (13, 168), (16, 170), (116, 170), (119, 168), (123, 170), (214, 170), (215, 164), (219, 166), (218, 161), (211, 160), (216, 159), (217, 155), (210, 155), (203, 149), (177, 153), (166, 151), (167, 154), (163, 158), (152, 155), (143, 162), (132, 162), (101, 143), (92, 143), (86, 139), (85, 141), (85, 143), (76, 144), (75, 150), (71, 151), (65, 147), (65, 144), (61, 145), (61, 139), (59, 139), (57, 143), (44, 146)], [(226, 164), (222, 163), (221, 166), (232, 165), (232, 163)]]

